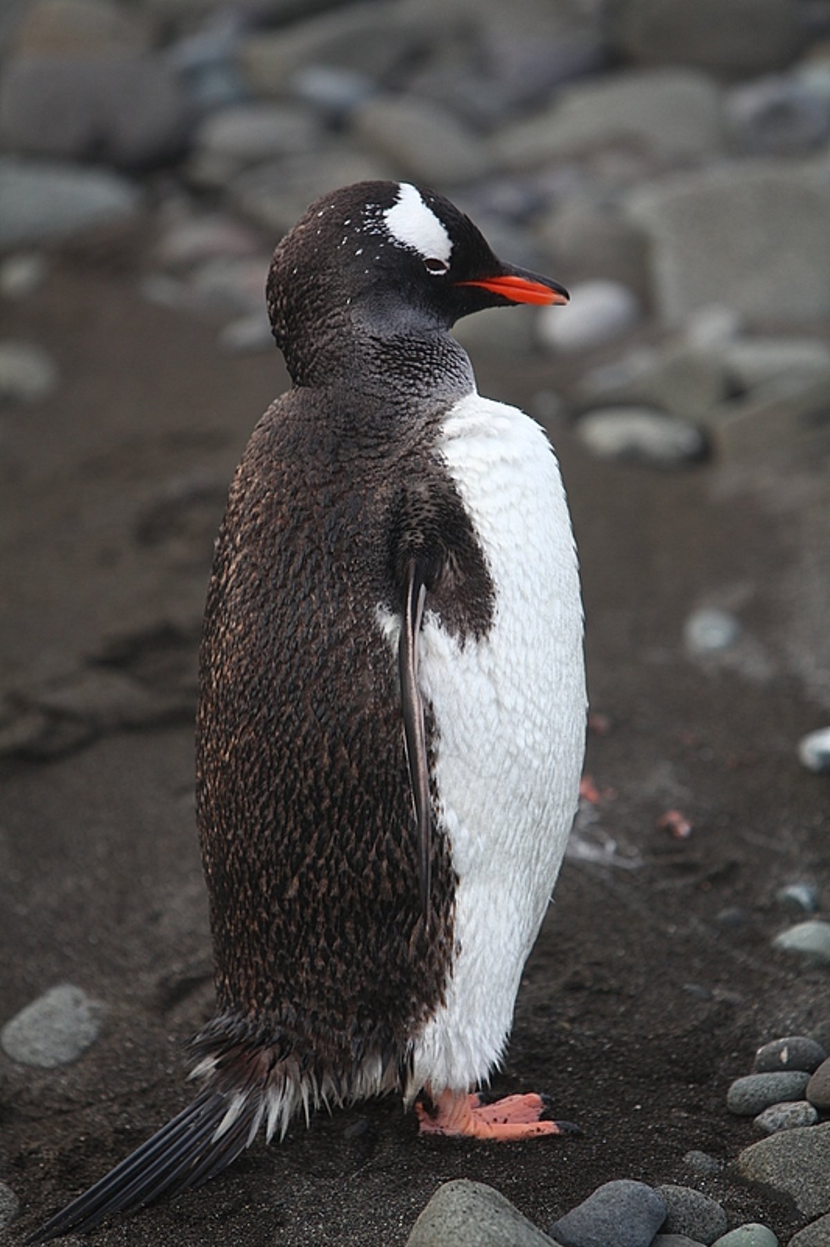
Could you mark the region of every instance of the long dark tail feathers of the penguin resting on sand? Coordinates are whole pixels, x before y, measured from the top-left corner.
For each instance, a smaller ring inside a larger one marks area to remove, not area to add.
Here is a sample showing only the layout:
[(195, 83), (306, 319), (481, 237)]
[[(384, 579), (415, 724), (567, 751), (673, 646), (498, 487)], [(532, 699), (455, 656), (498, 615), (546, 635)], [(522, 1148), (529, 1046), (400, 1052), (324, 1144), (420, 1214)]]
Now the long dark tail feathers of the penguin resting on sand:
[(239, 1105), (232, 1095), (206, 1089), (152, 1139), (31, 1233), (26, 1245), (45, 1243), (70, 1231), (86, 1233), (113, 1212), (135, 1210), (160, 1195), (207, 1182), (248, 1147), (262, 1115), (258, 1096), (249, 1095)]

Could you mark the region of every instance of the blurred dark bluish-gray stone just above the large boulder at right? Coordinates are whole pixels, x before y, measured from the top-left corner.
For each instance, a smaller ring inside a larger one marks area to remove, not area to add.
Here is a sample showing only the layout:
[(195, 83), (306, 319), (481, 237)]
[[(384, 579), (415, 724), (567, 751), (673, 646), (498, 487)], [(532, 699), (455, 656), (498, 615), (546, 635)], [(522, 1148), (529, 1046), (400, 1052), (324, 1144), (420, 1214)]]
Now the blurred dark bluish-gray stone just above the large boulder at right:
[(793, 156), (830, 133), (830, 101), (791, 77), (745, 82), (724, 100), (732, 146), (749, 156)]

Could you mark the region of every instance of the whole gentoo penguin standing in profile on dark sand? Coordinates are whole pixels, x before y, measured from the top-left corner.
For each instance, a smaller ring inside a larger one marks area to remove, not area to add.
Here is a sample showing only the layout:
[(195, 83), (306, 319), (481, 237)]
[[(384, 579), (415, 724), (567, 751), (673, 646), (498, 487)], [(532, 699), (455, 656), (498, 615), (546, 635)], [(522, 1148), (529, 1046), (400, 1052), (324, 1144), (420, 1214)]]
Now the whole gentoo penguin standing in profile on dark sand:
[(201, 650), (201, 1090), (35, 1241), (204, 1182), (319, 1104), (398, 1090), (425, 1132), (561, 1131), (540, 1096), (474, 1092), (577, 806), (577, 559), (543, 431), (477, 394), (450, 328), (567, 294), (398, 182), (312, 205), (267, 293), (293, 387), (231, 486)]

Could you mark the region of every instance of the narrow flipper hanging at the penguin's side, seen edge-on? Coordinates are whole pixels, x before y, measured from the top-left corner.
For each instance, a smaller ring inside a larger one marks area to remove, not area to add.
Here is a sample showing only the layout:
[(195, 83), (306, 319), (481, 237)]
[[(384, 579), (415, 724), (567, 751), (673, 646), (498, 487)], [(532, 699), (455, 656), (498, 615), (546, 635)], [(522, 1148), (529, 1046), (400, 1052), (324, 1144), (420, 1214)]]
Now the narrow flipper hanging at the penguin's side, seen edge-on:
[(424, 700), (417, 687), (417, 638), (424, 617), (426, 584), (422, 570), (415, 559), (406, 566), (406, 592), (404, 620), (398, 647), (398, 667), (400, 673), (400, 692), (404, 713), (404, 739), (406, 742), (406, 762), (409, 781), (413, 788), (417, 840), (420, 848), (421, 905), (424, 919), (429, 914), (431, 840), (432, 826), (430, 814), (430, 779), (426, 759), (426, 732), (424, 729)]

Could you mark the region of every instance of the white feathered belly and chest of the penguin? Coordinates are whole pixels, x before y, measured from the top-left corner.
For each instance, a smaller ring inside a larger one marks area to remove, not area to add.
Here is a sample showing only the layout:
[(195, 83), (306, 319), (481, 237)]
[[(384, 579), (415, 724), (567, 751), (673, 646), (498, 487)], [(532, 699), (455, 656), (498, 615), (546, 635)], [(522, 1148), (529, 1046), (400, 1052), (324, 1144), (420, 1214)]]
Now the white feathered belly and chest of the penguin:
[(410, 1094), (462, 1090), (500, 1061), (522, 968), (576, 813), (586, 692), (577, 559), (556, 456), (516, 408), (470, 394), (440, 451), (496, 587), (464, 645), (429, 610), (419, 677), (437, 726), (439, 819), (459, 877), (446, 1001), (414, 1044)]

